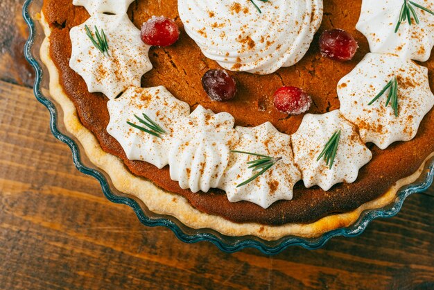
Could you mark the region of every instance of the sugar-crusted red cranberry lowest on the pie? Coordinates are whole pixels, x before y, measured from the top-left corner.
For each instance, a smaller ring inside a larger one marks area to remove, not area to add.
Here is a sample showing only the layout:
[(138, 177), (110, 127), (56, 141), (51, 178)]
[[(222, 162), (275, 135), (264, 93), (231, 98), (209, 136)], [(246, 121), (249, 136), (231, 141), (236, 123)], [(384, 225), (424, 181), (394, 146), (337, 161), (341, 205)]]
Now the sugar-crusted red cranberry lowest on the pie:
[(311, 97), (298, 87), (281, 87), (275, 92), (275, 107), (286, 114), (302, 114), (311, 103)]

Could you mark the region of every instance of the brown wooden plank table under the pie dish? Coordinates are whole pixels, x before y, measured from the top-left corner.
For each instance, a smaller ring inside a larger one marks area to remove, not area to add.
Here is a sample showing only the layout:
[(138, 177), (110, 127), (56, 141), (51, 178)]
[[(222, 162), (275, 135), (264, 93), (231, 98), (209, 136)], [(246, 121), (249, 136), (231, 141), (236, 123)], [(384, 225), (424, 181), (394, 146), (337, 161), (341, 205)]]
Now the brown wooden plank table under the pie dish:
[(22, 0), (0, 3), (0, 288), (434, 288), (434, 188), (321, 250), (267, 257), (183, 244), (105, 199), (51, 135), (22, 56)]

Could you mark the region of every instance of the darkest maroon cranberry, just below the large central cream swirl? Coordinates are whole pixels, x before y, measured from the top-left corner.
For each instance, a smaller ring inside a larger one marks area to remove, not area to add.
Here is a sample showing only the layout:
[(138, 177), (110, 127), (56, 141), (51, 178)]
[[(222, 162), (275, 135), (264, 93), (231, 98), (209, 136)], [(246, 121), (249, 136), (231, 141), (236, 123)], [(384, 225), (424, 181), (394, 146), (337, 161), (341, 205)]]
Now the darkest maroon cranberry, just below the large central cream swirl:
[(211, 69), (202, 76), (202, 86), (214, 101), (229, 101), (236, 94), (236, 83), (223, 69)]

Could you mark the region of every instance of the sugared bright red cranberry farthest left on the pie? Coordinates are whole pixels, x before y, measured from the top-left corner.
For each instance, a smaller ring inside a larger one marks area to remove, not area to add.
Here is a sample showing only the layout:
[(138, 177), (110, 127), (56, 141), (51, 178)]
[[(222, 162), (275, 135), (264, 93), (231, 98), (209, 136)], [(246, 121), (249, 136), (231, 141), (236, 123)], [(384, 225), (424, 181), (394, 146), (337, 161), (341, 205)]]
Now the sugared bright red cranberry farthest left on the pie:
[(153, 16), (141, 26), (140, 35), (148, 45), (169, 46), (180, 37), (180, 29), (172, 19)]

